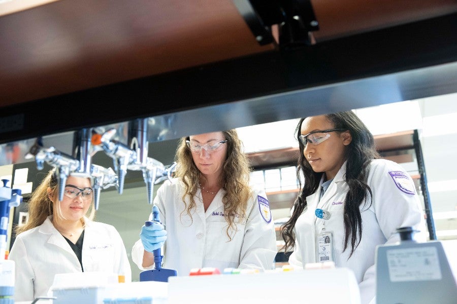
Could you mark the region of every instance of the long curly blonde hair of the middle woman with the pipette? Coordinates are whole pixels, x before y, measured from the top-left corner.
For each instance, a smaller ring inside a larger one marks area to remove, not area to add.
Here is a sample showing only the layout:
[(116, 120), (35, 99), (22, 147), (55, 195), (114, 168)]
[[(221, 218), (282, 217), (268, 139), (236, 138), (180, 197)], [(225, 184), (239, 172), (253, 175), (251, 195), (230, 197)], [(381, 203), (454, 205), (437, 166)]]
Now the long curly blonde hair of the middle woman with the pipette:
[[(222, 175), (219, 184), (225, 190), (222, 198), (224, 206), (224, 217), (227, 221), (227, 236), (232, 240), (232, 233), (237, 232), (234, 222), (236, 216), (246, 217), (247, 202), (251, 196), (249, 187), (250, 165), (247, 156), (242, 150), (243, 143), (238, 137), (235, 129), (222, 131), (227, 140), (227, 157), (223, 164)], [(186, 212), (192, 218), (190, 211), (195, 208), (194, 195), (197, 193), (200, 178), (203, 177), (200, 170), (195, 166), (192, 153), (186, 144), (189, 137), (182, 137), (176, 149), (175, 161), (177, 169), (175, 176), (184, 184), (182, 200), (185, 205), (183, 213)], [(189, 197), (189, 205), (186, 204), (186, 196)]]

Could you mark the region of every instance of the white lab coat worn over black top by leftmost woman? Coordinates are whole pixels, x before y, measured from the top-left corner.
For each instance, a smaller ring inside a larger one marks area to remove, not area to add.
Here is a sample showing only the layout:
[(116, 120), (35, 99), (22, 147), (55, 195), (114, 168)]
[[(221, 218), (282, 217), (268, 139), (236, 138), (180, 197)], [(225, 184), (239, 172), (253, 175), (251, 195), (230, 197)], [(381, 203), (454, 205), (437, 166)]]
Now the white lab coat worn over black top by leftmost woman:
[[(84, 272), (110, 272), (132, 281), (124, 243), (114, 226), (85, 220), (82, 263)], [(47, 295), (54, 276), (81, 272), (81, 264), (49, 217), (40, 226), (19, 234), (9, 255), (16, 263), (15, 301)]]

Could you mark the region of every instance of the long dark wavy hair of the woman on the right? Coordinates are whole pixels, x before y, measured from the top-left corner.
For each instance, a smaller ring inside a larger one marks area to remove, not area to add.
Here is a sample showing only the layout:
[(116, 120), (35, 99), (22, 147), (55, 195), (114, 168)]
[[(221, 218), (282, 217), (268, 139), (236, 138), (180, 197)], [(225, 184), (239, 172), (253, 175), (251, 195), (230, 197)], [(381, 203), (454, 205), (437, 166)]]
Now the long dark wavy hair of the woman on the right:
[[(338, 112), (325, 117), (333, 124), (332, 128), (348, 130), (352, 136), (351, 143), (347, 146), (345, 159), (346, 175), (344, 177), (349, 186), (349, 191), (344, 200), (344, 249), (346, 251), (350, 238), (351, 254), (357, 248), (362, 238), (362, 216), (360, 206), (366, 204), (368, 197), (371, 206), (372, 192), (367, 184), (368, 166), (371, 160), (379, 158), (376, 151), (373, 135), (365, 124), (352, 112)], [(285, 241), (284, 248), (295, 246), (295, 235), (293, 227), (297, 219), (307, 206), (306, 197), (316, 192), (323, 172), (314, 172), (310, 164), (303, 155), (304, 145), (299, 140), (301, 135), (302, 118), (295, 130), (297, 140), (299, 141), (300, 156), (297, 167), (297, 178), (300, 182), (301, 191), (293, 205), (293, 212), (290, 219), (281, 226), (281, 234)], [(300, 180), (300, 171), (305, 177), (303, 188)], [(365, 202), (365, 203), (364, 203)]]

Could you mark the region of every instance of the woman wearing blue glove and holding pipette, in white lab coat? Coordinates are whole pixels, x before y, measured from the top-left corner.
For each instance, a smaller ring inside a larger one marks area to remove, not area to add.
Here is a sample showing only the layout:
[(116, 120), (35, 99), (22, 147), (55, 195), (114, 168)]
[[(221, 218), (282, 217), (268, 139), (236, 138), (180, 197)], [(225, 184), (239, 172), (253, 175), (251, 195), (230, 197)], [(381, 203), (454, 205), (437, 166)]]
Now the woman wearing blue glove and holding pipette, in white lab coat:
[(154, 199), (162, 224), (143, 226), (132, 249), (138, 267), (152, 269), (151, 252), (165, 243), (162, 268), (178, 275), (204, 267), (270, 269), (277, 252), (273, 219), (264, 189), (248, 185), (236, 130), (182, 138), (176, 161), (177, 178)]

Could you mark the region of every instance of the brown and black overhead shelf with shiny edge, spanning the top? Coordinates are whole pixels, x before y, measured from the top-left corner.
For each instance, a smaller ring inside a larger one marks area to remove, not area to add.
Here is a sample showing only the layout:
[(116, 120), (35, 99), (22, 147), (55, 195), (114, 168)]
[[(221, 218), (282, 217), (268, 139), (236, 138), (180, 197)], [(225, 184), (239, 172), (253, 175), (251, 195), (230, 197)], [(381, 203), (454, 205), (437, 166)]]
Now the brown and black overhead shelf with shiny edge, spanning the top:
[(60, 0), (0, 16), (0, 144), (138, 118), (154, 121), (150, 142), (173, 140), (457, 91), (455, 1), (305, 2), (286, 26), (259, 7), (282, 1)]

